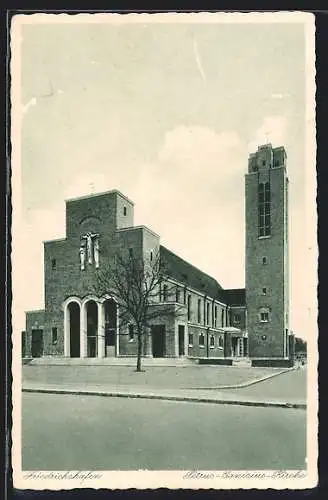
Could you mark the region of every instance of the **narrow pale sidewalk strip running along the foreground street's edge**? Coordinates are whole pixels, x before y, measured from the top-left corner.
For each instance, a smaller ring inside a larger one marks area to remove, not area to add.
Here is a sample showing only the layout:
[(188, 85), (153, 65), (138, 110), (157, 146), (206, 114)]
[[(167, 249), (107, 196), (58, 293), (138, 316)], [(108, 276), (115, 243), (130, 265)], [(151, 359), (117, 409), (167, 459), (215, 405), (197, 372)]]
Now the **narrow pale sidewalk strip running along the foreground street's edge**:
[(272, 398), (267, 400), (262, 397), (251, 397), (240, 393), (230, 393), (229, 391), (216, 391), (205, 389), (163, 389), (158, 387), (126, 387), (110, 386), (106, 384), (51, 384), (37, 381), (23, 382), (23, 392), (50, 393), (50, 394), (72, 394), (80, 396), (103, 396), (120, 398), (157, 399), (166, 401), (184, 401), (190, 403), (212, 403), (227, 405), (244, 405), (255, 407), (276, 407), (306, 409), (306, 401), (302, 399), (288, 398), (280, 400)]

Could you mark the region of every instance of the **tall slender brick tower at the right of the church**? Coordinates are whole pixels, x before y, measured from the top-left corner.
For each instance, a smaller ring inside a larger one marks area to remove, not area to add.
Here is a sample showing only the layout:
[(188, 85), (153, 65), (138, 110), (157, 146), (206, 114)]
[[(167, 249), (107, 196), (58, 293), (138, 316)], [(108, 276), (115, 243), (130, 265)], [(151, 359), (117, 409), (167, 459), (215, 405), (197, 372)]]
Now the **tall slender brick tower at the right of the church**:
[(250, 358), (287, 358), (289, 333), (286, 152), (259, 146), (248, 160), (246, 311)]

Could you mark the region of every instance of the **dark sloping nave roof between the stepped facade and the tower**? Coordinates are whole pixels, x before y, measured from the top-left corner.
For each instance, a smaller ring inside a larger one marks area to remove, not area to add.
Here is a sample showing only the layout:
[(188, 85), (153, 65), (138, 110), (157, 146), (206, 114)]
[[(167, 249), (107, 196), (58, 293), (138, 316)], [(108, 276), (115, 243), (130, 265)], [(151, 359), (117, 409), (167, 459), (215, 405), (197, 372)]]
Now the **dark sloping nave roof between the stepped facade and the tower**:
[(224, 300), (224, 290), (214, 278), (162, 245), (160, 246), (160, 257), (168, 276), (213, 299)]

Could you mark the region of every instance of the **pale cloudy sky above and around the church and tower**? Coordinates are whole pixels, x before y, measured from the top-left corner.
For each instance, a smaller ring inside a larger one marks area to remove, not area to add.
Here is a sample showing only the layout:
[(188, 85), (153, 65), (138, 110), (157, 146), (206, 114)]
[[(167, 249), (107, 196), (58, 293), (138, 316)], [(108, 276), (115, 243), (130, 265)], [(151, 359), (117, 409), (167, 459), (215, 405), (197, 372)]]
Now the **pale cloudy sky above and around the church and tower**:
[(271, 142), (288, 155), (291, 326), (306, 337), (304, 40), (301, 23), (21, 26), (20, 329), (43, 307), (42, 241), (91, 192), (121, 190), (136, 224), (243, 287), (247, 158)]

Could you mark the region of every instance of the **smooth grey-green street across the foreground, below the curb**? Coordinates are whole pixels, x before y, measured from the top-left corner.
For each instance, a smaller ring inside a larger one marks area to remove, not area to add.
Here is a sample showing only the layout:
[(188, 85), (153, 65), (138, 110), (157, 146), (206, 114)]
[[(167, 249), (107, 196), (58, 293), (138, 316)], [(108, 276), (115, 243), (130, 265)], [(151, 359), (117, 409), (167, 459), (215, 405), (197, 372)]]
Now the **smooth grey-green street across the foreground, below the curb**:
[(296, 469), (306, 412), (23, 393), (24, 470)]

